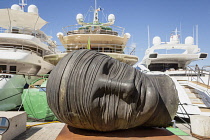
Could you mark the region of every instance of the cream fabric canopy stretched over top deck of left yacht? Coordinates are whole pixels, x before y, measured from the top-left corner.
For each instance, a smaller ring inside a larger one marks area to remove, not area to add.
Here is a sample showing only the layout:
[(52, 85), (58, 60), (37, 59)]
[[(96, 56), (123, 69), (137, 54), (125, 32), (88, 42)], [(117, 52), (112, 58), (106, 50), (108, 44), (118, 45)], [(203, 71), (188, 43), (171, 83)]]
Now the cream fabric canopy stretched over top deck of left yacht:
[(0, 27), (23, 27), (30, 29), (41, 29), (47, 22), (35, 13), (27, 13), (12, 9), (0, 9)]

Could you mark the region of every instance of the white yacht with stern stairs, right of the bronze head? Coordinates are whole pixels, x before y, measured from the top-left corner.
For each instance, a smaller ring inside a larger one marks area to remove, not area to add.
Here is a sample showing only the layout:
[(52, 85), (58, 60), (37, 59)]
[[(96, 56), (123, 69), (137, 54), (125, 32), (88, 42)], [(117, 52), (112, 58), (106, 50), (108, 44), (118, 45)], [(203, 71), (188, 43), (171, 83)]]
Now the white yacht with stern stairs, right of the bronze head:
[[(169, 51), (171, 53), (168, 53)], [(207, 53), (200, 53), (200, 48), (194, 44), (194, 38), (191, 36), (186, 37), (185, 43), (181, 44), (176, 29), (170, 37), (170, 42), (161, 42), (160, 37), (154, 37), (153, 46), (146, 50), (137, 68), (148, 74), (171, 76), (180, 100), (177, 116), (184, 118), (195, 114), (210, 116), (210, 92), (208, 91), (210, 87), (207, 83), (210, 80), (209, 74), (201, 72), (198, 66), (189, 66), (193, 61), (207, 58), (207, 55)]]

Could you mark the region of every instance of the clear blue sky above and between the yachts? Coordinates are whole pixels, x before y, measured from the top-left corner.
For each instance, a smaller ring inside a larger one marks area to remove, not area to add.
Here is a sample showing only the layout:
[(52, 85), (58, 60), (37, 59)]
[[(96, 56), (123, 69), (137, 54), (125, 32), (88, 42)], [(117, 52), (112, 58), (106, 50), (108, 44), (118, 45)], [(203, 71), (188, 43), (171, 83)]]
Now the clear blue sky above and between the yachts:
[[(39, 15), (49, 23), (42, 30), (53, 37), (64, 51), (56, 37), (62, 28), (77, 24), (76, 15), (86, 15), (94, 0), (28, 0), (39, 9)], [(0, 0), (0, 9), (10, 8), (19, 0)], [(144, 57), (148, 47), (147, 26), (150, 27), (150, 42), (160, 36), (162, 41), (169, 41), (170, 34), (177, 27), (181, 40), (193, 36), (193, 27), (198, 25), (198, 45), (201, 52), (210, 53), (210, 0), (97, 0), (105, 15), (114, 14), (116, 26), (124, 27), (131, 34), (128, 46), (136, 44), (139, 61)], [(26, 8), (27, 9), (27, 8)], [(92, 13), (91, 13), (92, 14)], [(105, 21), (102, 12), (100, 21)], [(88, 16), (87, 16), (88, 17)], [(91, 18), (91, 17), (90, 17)], [(86, 18), (87, 20), (90, 18)], [(210, 65), (210, 56), (205, 60), (193, 62), (192, 65)]]

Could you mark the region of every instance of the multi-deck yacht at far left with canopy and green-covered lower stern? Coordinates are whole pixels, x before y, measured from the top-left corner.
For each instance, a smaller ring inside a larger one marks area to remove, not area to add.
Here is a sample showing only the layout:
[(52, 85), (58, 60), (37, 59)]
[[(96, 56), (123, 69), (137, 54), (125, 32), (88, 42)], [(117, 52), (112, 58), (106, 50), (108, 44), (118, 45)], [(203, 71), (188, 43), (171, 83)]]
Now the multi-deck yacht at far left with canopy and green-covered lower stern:
[(24, 12), (26, 5), (22, 0), (0, 9), (0, 110), (20, 105), (24, 86), (54, 68), (43, 59), (56, 52), (56, 43), (40, 30), (47, 22), (35, 5)]

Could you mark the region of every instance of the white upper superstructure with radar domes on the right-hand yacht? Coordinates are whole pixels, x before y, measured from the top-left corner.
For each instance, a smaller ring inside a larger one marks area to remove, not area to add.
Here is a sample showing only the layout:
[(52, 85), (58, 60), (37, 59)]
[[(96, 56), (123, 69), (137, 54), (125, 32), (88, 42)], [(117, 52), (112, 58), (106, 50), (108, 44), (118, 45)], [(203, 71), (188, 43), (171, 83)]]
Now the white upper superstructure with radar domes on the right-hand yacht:
[[(165, 53), (158, 53), (158, 50), (165, 50)], [(167, 54), (168, 50), (172, 53)], [(183, 50), (183, 52), (176, 53), (177, 50)], [(181, 44), (176, 29), (175, 34), (170, 37), (170, 42), (161, 42), (160, 37), (154, 37), (153, 46), (146, 50), (141, 64), (146, 65), (151, 71), (186, 69), (186, 66), (192, 61), (207, 57), (207, 53), (199, 52), (200, 48), (198, 48), (198, 45), (194, 45), (194, 38), (191, 36), (185, 38), (185, 44)]]

